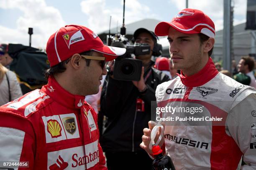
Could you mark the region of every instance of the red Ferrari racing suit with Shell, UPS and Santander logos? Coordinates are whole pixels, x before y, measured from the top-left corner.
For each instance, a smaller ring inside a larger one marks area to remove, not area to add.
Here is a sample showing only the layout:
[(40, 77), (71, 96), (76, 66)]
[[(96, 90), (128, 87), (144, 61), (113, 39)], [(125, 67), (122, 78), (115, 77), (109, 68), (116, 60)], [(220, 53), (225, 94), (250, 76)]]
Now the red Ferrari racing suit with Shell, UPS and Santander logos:
[(107, 169), (97, 114), (53, 77), (41, 90), (1, 106), (0, 117), (0, 160), (29, 163), (15, 170)]

